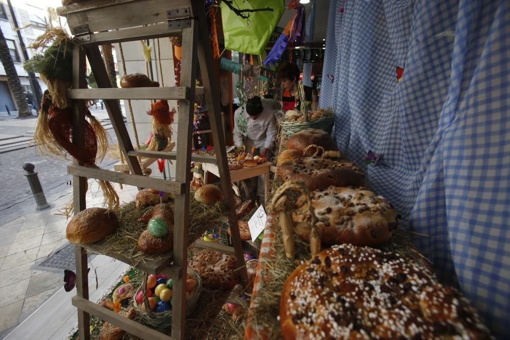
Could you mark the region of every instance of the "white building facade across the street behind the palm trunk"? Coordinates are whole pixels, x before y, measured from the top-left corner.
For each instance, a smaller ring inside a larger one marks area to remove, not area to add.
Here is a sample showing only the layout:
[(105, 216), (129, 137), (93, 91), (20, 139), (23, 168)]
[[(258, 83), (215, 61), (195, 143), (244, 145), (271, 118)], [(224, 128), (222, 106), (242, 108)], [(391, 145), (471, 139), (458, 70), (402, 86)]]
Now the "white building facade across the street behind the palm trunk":
[[(23, 42), (25, 46), (29, 46), (35, 38), (46, 30), (48, 22), (47, 10), (44, 6), (38, 5), (37, 2), (30, 0), (11, 0), (11, 4), (14, 7), (18, 26), (21, 28), (20, 31)], [(18, 35), (14, 30), (13, 20), (6, 0), (0, 0), (0, 27), (2, 28), (7, 46), (11, 52), (11, 57), (16, 67), (21, 86), (25, 92), (33, 92), (30, 86), (28, 73), (23, 69), (23, 53), (19, 44)], [(29, 58), (31, 58), (34, 51), (28, 48), (27, 53)], [(44, 91), (46, 89), (44, 82), (40, 80), (39, 77), (37, 77), (37, 81), (39, 82), (41, 90)], [(9, 108), (10, 111), (17, 111), (16, 101), (9, 88), (4, 66), (0, 63), (0, 112), (5, 112), (7, 110), (6, 107)]]

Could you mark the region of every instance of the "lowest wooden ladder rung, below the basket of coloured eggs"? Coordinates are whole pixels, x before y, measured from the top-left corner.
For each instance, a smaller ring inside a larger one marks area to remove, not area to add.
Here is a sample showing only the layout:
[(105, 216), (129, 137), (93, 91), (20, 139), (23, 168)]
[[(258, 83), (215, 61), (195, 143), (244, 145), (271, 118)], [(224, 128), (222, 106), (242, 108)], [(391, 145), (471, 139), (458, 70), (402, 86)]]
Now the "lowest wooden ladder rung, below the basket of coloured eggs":
[(94, 315), (104, 321), (107, 321), (117, 327), (122, 328), (126, 332), (129, 332), (135, 336), (138, 336), (142, 339), (147, 340), (172, 340), (171, 336), (165, 335), (163, 333), (158, 332), (152, 328), (144, 326), (134, 320), (127, 319), (121, 315), (118, 315), (116, 312), (102, 307), (97, 303), (90, 302), (87, 299), (84, 299), (78, 295), (73, 296), (72, 305), (77, 307), (78, 309), (84, 310), (90, 315)]

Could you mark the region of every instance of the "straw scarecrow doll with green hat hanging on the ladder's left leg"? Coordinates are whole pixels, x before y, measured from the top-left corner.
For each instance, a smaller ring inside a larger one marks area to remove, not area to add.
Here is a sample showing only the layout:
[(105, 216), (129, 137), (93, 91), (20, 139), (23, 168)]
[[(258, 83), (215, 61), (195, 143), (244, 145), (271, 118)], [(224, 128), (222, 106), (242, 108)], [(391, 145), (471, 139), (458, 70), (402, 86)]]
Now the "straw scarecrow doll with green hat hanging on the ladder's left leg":
[[(78, 46), (62, 28), (49, 28), (29, 46), (41, 49), (24, 65), (24, 69), (38, 72), (48, 90), (41, 100), (34, 139), (36, 150), (43, 155), (67, 158), (71, 155), (82, 165), (98, 168), (96, 158), (103, 160), (108, 149), (108, 135), (100, 122), (87, 110), (85, 121), (85, 146), (72, 143), (72, 102), (67, 99), (66, 90), (72, 85), (72, 51)], [(112, 184), (99, 181), (103, 190), (104, 205), (117, 210), (119, 197)], [(66, 215), (72, 207), (65, 208)]]

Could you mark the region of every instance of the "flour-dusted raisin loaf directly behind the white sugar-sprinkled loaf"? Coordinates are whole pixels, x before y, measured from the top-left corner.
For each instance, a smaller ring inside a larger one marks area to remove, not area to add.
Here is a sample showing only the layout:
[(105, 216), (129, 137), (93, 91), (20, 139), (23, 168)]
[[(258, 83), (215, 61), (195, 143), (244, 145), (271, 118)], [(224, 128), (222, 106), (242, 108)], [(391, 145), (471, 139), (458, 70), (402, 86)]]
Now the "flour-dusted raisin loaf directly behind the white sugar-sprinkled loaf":
[[(311, 192), (312, 207), (318, 221), (315, 223), (322, 244), (331, 246), (350, 243), (355, 246), (377, 246), (390, 240), (397, 226), (397, 213), (384, 197), (367, 188), (329, 187)], [(310, 222), (312, 216), (304, 197), (293, 213), (294, 222)], [(309, 240), (309, 233), (299, 228), (296, 234)]]

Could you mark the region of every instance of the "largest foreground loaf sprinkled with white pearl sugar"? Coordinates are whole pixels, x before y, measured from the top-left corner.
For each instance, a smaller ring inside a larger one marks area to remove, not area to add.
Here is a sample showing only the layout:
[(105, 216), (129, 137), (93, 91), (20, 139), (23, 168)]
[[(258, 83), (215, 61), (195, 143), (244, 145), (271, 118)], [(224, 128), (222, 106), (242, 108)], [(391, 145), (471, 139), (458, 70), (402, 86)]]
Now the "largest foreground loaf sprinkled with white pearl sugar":
[(317, 254), (287, 278), (284, 339), (488, 339), (468, 300), (424, 266), (352, 245)]

